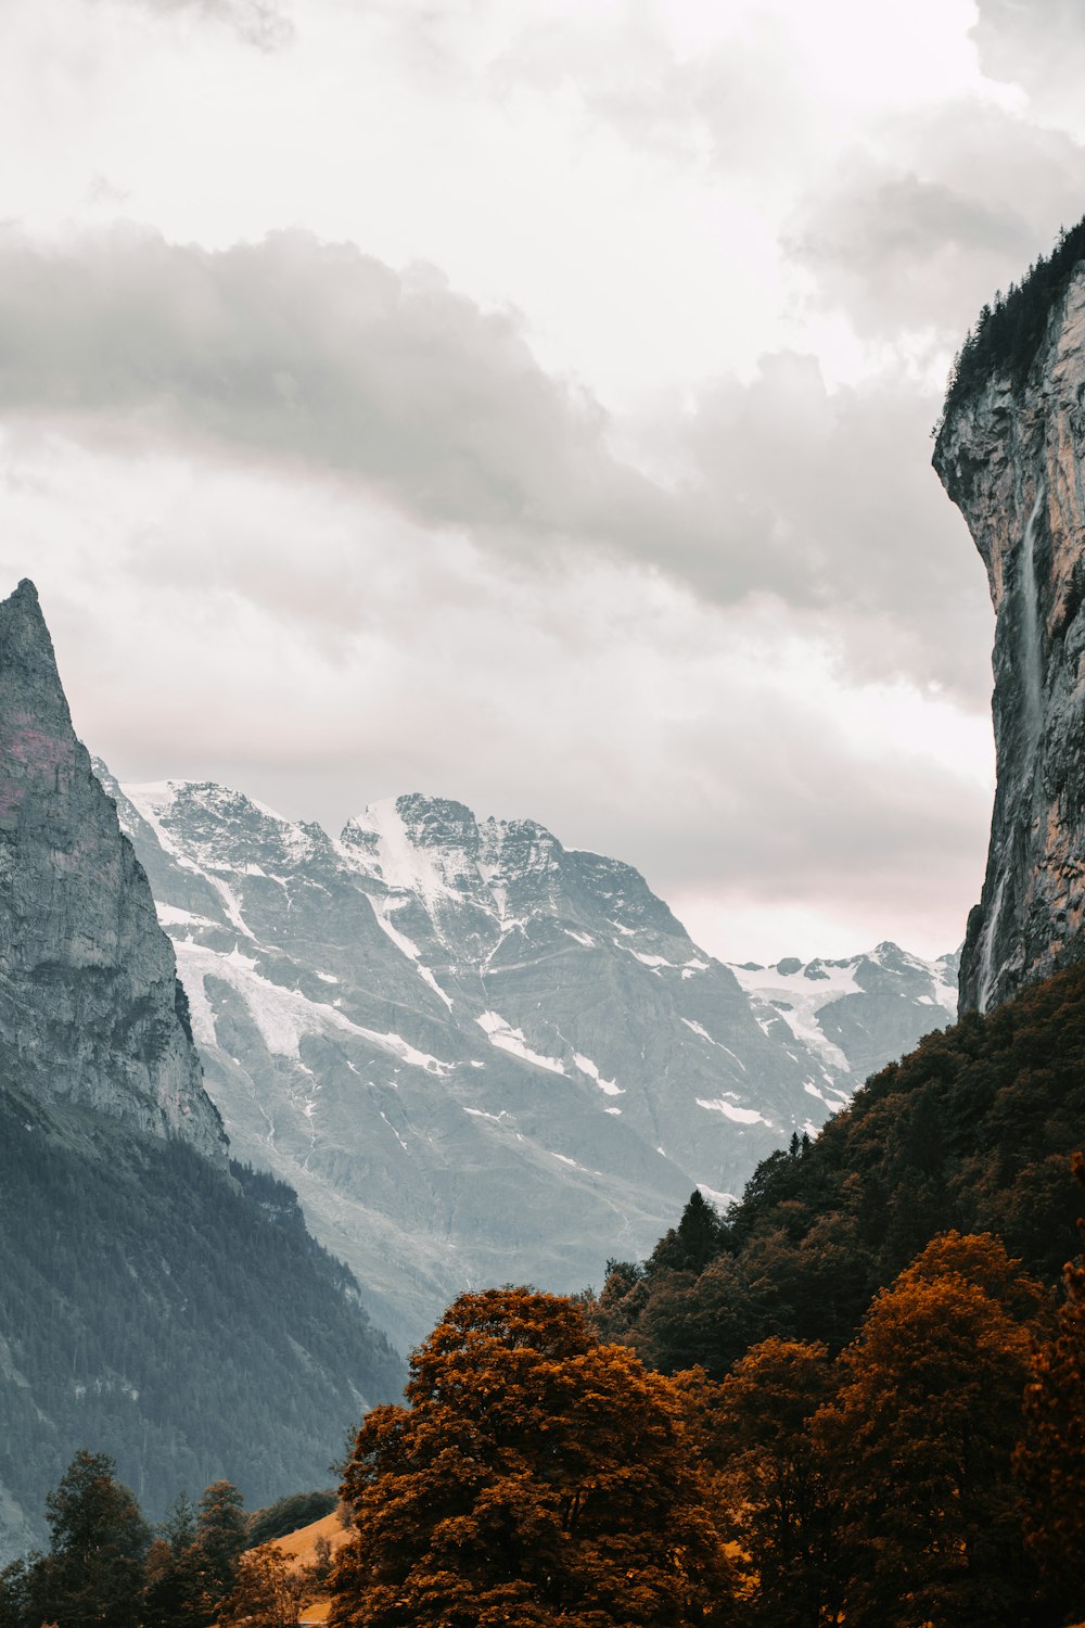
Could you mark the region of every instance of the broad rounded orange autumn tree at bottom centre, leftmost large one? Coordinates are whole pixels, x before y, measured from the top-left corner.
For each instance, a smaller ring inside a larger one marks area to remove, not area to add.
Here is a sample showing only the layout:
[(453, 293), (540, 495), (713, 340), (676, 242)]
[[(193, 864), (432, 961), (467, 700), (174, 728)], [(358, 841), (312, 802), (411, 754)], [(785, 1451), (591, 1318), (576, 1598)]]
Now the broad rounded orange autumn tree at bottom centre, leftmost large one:
[(716, 1625), (730, 1581), (673, 1387), (582, 1307), (462, 1294), (412, 1356), (407, 1407), (346, 1464), (337, 1628)]

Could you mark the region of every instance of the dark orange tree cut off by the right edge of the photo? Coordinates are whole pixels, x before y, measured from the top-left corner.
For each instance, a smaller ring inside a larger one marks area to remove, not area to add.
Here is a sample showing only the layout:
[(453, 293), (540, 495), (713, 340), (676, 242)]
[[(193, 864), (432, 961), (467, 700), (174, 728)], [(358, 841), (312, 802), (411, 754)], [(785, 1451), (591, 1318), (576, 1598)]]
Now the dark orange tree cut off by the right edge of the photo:
[[(1085, 1185), (1080, 1153), (1074, 1174)], [(1085, 1618), (1085, 1262), (1067, 1263), (1064, 1281), (1054, 1338), (1033, 1358), (1015, 1462), (1028, 1547), (1077, 1621)]]

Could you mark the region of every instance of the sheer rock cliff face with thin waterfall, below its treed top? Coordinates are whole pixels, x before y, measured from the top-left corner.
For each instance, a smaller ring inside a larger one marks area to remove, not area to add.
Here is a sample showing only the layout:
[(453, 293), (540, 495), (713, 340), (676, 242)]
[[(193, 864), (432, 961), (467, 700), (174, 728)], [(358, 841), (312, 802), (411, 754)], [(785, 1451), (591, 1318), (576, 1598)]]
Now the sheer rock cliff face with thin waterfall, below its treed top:
[(986, 1011), (1085, 956), (1085, 262), (1020, 383), (956, 400), (934, 464), (996, 609), (997, 790), (961, 1009)]

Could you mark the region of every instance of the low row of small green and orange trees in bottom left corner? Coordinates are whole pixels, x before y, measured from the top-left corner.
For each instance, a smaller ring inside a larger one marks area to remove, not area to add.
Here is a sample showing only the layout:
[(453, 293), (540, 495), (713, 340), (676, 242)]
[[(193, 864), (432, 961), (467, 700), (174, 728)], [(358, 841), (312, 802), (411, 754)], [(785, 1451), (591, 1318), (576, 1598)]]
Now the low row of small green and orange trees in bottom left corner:
[(333, 1493), (246, 1516), (237, 1488), (213, 1481), (195, 1508), (181, 1496), (153, 1529), (115, 1468), (107, 1454), (76, 1452), (46, 1498), (49, 1550), (0, 1573), (0, 1628), (294, 1628), (301, 1600), (325, 1587), (330, 1547), (291, 1566), (268, 1547), (268, 1529), (327, 1514)]

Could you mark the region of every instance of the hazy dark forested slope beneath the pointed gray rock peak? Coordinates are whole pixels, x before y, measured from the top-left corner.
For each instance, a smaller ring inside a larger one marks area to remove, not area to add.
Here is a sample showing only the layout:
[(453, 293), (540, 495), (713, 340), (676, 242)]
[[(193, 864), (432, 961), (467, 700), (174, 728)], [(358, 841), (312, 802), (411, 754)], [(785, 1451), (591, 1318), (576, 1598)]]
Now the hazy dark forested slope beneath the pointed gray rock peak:
[(322, 1481), (402, 1363), (291, 1188), (0, 1089), (0, 1483), (37, 1512), (80, 1442), (161, 1516), (220, 1477)]

